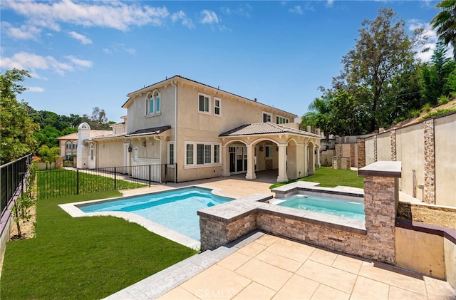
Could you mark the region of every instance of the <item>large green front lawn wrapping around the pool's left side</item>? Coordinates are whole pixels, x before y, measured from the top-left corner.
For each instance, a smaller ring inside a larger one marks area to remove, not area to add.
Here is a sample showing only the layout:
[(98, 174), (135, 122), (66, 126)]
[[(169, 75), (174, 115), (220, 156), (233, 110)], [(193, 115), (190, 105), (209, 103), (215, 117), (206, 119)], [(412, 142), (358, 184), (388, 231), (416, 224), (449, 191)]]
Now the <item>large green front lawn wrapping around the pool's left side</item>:
[(101, 299), (197, 253), (124, 219), (73, 218), (58, 207), (118, 196), (38, 200), (36, 237), (7, 243), (1, 299)]

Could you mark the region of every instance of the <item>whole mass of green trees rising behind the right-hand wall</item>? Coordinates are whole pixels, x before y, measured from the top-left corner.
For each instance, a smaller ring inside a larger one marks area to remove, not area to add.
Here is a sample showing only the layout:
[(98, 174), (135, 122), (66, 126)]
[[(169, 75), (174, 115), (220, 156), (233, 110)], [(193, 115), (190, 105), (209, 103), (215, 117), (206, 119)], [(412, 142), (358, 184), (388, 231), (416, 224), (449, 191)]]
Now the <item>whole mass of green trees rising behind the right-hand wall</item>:
[(341, 74), (331, 88), (320, 88), (321, 98), (309, 105), (301, 125), (319, 127), (326, 135), (362, 135), (415, 116), (442, 96), (455, 97), (456, 63), (446, 58), (443, 42), (430, 62), (421, 62), (416, 49), (426, 41), (423, 31), (409, 36), (404, 21), (385, 8), (363, 21), (358, 32), (342, 58)]

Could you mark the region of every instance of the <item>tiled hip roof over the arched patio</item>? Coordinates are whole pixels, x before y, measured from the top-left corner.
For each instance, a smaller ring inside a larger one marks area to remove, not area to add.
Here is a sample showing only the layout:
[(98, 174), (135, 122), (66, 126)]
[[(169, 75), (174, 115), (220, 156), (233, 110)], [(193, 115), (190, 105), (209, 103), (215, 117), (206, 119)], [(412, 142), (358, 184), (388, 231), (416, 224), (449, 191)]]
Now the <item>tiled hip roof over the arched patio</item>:
[(241, 125), (238, 128), (221, 133), (219, 137), (239, 136), (239, 135), (267, 135), (271, 133), (293, 133), (296, 135), (307, 135), (311, 137), (320, 137), (314, 133), (308, 133), (303, 130), (289, 128), (284, 125), (279, 125), (271, 122), (267, 123), (252, 123)]

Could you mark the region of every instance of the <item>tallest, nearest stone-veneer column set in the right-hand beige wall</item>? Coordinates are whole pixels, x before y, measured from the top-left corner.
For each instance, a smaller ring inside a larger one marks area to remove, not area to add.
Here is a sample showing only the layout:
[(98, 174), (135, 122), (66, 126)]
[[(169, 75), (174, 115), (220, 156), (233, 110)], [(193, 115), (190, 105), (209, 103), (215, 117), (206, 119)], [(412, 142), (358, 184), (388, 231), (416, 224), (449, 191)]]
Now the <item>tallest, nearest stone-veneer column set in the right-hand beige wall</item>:
[(424, 122), (425, 138), (425, 186), (424, 199), (426, 203), (435, 204), (435, 141), (434, 119)]

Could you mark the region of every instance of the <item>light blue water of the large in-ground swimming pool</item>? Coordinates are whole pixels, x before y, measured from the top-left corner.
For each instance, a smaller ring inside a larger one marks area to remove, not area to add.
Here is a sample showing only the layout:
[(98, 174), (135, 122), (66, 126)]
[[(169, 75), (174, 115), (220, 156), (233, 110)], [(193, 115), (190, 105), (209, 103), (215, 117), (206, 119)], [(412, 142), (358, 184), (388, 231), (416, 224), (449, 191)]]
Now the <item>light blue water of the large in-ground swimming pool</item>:
[(232, 200), (212, 195), (210, 190), (187, 187), (167, 192), (128, 197), (79, 206), (83, 212), (133, 212), (169, 229), (199, 241), (197, 210)]

